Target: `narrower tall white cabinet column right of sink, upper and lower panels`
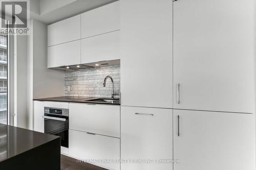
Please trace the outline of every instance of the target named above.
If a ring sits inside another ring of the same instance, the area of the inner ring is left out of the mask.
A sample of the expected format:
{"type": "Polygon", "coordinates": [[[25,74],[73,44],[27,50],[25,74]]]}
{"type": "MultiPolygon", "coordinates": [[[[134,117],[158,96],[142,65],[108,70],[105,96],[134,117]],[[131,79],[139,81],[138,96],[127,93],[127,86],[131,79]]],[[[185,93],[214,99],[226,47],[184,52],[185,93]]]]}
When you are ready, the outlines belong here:
{"type": "Polygon", "coordinates": [[[122,170],[172,169],[172,5],[120,1],[122,170]]]}

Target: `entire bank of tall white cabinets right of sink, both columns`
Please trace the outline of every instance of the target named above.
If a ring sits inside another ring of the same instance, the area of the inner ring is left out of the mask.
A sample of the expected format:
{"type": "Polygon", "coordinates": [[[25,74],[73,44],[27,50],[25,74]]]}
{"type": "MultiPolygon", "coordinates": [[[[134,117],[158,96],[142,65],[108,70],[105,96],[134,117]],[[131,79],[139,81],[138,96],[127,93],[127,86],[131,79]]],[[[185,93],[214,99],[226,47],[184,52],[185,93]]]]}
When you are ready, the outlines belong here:
{"type": "Polygon", "coordinates": [[[253,170],[253,0],[120,5],[121,169],[253,170]]]}

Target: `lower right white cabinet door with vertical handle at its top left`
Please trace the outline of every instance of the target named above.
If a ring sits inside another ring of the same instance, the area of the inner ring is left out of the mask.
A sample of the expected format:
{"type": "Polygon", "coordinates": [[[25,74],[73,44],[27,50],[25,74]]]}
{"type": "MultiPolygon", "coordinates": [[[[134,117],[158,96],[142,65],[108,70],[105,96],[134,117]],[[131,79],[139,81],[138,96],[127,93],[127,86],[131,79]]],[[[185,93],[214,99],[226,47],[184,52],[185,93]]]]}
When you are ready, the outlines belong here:
{"type": "Polygon", "coordinates": [[[253,114],[174,110],[174,122],[175,170],[254,169],[253,114]]]}

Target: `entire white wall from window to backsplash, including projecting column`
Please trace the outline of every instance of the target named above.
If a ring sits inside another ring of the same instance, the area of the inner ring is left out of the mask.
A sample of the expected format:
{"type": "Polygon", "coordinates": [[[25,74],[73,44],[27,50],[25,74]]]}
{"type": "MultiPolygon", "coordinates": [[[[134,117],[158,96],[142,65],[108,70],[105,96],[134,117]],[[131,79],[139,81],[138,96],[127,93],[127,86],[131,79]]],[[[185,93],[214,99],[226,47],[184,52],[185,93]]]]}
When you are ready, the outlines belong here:
{"type": "Polygon", "coordinates": [[[33,129],[33,99],[64,95],[64,71],[47,68],[47,26],[30,21],[17,36],[17,126],[33,129]]]}

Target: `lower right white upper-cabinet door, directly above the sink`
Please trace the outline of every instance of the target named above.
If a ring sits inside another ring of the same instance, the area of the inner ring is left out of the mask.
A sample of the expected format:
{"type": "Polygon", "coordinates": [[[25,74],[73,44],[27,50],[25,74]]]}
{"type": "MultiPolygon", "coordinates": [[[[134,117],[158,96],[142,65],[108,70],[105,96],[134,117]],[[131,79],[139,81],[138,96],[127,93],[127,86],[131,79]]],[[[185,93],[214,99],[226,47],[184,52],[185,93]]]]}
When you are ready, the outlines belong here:
{"type": "Polygon", "coordinates": [[[116,59],[120,59],[120,31],[81,40],[82,63],[116,59]]]}

